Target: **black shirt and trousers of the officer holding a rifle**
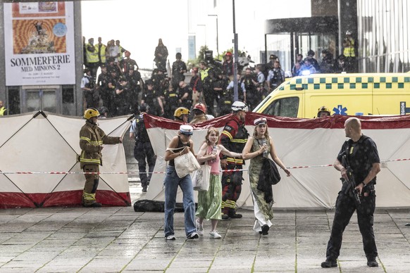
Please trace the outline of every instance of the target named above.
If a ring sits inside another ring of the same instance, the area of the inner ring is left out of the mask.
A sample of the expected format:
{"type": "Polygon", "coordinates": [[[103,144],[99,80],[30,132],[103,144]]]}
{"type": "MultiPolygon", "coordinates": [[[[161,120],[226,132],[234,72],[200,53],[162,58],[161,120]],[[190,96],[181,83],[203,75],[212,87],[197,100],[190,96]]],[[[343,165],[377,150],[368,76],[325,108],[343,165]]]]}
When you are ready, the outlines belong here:
{"type": "MultiPolygon", "coordinates": [[[[344,142],[342,149],[337,155],[337,160],[342,163],[342,154],[346,153],[347,161],[352,167],[356,186],[361,184],[370,172],[373,163],[380,163],[378,149],[373,139],[362,135],[359,141],[349,139],[344,142]]],[[[346,167],[346,166],[344,166],[346,167]]],[[[373,213],[375,210],[375,185],[374,178],[361,193],[361,203],[356,203],[352,186],[344,182],[342,190],[336,200],[335,219],[333,220],[332,233],[326,250],[326,260],[336,260],[342,246],[342,234],[349,224],[354,210],[357,213],[359,229],[363,238],[364,252],[368,260],[374,260],[378,255],[373,233],[373,213]]]]}

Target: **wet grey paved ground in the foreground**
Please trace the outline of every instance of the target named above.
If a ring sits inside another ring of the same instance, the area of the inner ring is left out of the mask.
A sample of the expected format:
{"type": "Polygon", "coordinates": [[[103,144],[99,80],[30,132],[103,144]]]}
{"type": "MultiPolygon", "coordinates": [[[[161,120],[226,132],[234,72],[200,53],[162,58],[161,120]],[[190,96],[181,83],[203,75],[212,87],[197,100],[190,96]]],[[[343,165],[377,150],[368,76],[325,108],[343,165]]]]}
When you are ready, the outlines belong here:
{"type": "MultiPolygon", "coordinates": [[[[144,199],[130,183],[132,203],[144,199]]],[[[162,212],[132,207],[0,210],[1,272],[410,272],[409,210],[375,213],[379,267],[366,265],[356,215],[344,231],[339,267],[321,268],[334,210],[275,210],[267,236],[252,210],[218,224],[222,239],[186,240],[175,213],[175,241],[163,238],[162,212]]]]}

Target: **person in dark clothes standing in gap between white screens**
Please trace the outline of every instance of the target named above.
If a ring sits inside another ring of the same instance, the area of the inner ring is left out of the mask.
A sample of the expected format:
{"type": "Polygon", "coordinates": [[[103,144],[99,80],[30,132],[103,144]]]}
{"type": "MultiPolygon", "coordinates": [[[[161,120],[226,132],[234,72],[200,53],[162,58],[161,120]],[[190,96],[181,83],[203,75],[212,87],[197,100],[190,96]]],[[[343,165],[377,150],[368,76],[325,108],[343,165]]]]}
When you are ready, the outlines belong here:
{"type": "Polygon", "coordinates": [[[134,157],[138,161],[139,179],[141,179],[142,192],[147,192],[154,171],[156,156],[152,148],[147,129],[144,125],[144,115],[149,112],[149,106],[142,103],[139,106],[139,116],[132,122],[130,139],[135,138],[134,157]],[[148,172],[147,175],[147,163],[148,172]]]}

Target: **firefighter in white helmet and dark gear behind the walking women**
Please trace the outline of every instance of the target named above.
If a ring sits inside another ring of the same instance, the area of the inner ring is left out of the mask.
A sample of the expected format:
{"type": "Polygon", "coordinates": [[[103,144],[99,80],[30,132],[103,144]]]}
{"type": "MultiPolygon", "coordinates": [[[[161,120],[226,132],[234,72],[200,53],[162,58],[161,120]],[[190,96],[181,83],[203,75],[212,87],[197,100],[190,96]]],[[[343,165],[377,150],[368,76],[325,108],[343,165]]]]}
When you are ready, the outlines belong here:
{"type": "MultiPolygon", "coordinates": [[[[231,109],[232,118],[220,134],[220,144],[228,151],[242,153],[249,136],[245,128],[248,106],[242,101],[235,101],[231,109]]],[[[242,165],[242,158],[221,156],[220,166],[223,170],[239,170],[222,174],[222,219],[242,218],[242,215],[236,213],[236,201],[242,191],[242,165]]]]}

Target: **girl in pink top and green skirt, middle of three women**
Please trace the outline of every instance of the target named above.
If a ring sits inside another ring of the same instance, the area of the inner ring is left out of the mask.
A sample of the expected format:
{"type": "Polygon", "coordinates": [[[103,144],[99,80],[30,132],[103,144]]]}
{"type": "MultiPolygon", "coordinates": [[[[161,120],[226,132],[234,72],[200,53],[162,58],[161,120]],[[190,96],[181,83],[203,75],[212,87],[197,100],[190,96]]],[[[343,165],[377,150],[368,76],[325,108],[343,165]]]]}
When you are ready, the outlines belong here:
{"type": "Polygon", "coordinates": [[[198,192],[198,209],[197,209],[197,233],[204,235],[204,219],[211,220],[211,232],[209,236],[213,239],[220,239],[221,236],[216,231],[218,220],[221,220],[220,205],[222,203],[222,185],[220,184],[220,160],[219,153],[228,155],[232,158],[242,158],[240,153],[228,151],[224,146],[218,144],[219,131],[211,127],[205,136],[204,144],[199,149],[197,160],[199,163],[206,162],[211,166],[211,175],[209,178],[209,190],[198,192]]]}

